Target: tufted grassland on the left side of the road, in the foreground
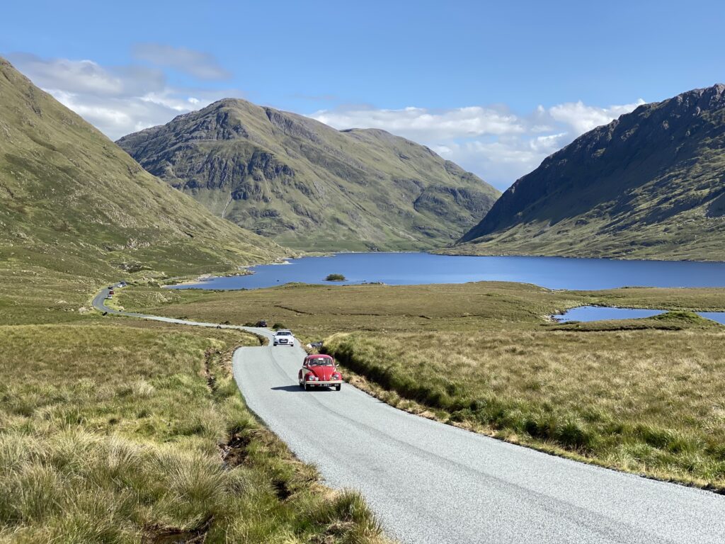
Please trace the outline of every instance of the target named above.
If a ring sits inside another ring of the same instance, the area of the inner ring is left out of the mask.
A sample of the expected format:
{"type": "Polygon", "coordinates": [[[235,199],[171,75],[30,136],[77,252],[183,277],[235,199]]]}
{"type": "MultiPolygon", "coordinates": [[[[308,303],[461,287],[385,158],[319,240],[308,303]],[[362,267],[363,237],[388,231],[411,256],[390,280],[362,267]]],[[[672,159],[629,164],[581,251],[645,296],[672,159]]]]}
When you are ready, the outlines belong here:
{"type": "Polygon", "coordinates": [[[239,331],[0,326],[0,541],[381,543],[244,405],[239,331]]]}

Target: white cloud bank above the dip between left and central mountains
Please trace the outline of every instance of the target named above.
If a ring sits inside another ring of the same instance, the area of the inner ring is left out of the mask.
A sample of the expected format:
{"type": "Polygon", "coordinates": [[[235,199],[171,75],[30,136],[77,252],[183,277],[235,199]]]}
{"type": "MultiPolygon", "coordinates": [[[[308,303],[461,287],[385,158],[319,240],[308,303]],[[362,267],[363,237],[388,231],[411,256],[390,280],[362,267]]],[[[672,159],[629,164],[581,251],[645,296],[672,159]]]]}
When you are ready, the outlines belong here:
{"type": "Polygon", "coordinates": [[[236,89],[173,87],[154,68],[101,67],[91,60],[43,59],[27,53],[8,57],[33,83],[114,140],[215,100],[240,96],[236,89]]]}

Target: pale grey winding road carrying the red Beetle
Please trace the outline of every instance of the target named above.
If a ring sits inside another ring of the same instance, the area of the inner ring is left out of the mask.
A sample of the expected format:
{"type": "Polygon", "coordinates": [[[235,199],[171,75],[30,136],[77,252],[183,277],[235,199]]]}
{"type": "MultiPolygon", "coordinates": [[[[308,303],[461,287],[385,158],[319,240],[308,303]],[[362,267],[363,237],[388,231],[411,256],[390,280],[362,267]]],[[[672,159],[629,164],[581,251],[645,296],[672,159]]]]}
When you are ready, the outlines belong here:
{"type": "MultiPolygon", "coordinates": [[[[101,311],[195,326],[173,318],[101,311]]],[[[268,329],[222,325],[271,336],[268,329]]],[[[404,543],[725,543],[725,496],[602,469],[410,415],[344,384],[305,392],[300,347],[241,347],[249,408],[404,543]]]]}

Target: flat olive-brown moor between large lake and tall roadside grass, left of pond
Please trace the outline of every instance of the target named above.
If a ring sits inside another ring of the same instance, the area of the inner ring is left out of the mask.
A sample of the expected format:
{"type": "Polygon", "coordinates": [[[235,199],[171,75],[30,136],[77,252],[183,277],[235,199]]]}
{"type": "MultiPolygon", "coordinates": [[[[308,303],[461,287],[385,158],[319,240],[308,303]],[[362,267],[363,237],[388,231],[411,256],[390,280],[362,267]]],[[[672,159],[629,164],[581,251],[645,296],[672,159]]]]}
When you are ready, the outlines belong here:
{"type": "Polygon", "coordinates": [[[303,339],[339,331],[476,330],[529,327],[576,305],[566,293],[533,285],[303,285],[208,292],[134,288],[117,301],[125,308],[201,321],[284,323],[303,339]]]}

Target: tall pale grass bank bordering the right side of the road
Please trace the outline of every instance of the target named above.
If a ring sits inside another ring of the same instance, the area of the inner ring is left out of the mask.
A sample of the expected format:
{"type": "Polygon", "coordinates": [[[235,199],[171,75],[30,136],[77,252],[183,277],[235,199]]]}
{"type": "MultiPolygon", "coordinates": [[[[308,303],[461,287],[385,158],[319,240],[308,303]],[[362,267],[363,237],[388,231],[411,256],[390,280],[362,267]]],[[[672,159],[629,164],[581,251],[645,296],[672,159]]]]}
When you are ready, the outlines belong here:
{"type": "MultiPolygon", "coordinates": [[[[646,320],[638,320],[646,321],[646,320]]],[[[725,334],[336,334],[325,349],[403,409],[650,477],[725,490],[725,334]]]]}

